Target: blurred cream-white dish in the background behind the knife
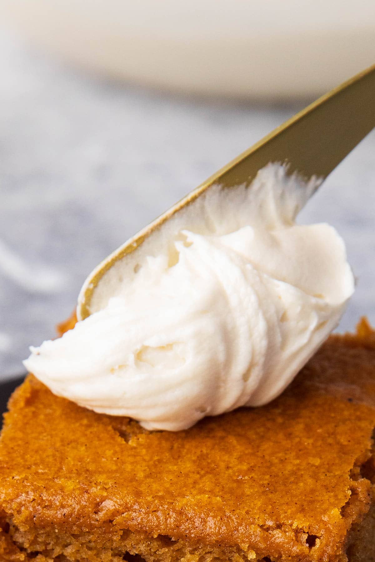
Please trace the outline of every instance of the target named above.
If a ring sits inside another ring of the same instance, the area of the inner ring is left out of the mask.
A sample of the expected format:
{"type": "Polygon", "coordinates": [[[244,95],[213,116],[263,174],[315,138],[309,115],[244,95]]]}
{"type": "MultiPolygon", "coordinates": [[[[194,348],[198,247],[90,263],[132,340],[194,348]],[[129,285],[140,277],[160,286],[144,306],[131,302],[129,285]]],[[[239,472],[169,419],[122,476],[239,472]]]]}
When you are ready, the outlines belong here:
{"type": "Polygon", "coordinates": [[[374,0],[0,0],[0,17],[89,70],[183,93],[314,97],[375,62],[374,0]]]}

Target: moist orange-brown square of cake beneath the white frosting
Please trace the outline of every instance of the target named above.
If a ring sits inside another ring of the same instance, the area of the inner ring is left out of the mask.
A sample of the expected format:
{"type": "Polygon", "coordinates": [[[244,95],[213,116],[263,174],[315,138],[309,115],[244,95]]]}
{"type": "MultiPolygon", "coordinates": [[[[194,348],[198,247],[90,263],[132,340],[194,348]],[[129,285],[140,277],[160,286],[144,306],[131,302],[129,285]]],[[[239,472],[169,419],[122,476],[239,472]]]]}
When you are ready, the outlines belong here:
{"type": "Polygon", "coordinates": [[[365,320],[271,404],[183,432],[93,413],[30,375],[0,442],[0,560],[370,562],[374,427],[365,320]]]}

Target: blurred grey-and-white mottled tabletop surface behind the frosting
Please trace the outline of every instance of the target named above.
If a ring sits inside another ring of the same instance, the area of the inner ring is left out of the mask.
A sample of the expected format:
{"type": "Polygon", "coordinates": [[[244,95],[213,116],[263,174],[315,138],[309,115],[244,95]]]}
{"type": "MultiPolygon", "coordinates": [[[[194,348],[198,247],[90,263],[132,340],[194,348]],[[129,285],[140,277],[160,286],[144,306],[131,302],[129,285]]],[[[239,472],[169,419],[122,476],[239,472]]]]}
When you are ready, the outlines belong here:
{"type": "MultiPolygon", "coordinates": [[[[0,30],[0,373],[54,335],[111,250],[299,110],[169,97],[82,75],[0,30]]],[[[344,236],[375,324],[375,134],[302,212],[344,236]]],[[[93,342],[94,345],[94,342],[93,342]]]]}

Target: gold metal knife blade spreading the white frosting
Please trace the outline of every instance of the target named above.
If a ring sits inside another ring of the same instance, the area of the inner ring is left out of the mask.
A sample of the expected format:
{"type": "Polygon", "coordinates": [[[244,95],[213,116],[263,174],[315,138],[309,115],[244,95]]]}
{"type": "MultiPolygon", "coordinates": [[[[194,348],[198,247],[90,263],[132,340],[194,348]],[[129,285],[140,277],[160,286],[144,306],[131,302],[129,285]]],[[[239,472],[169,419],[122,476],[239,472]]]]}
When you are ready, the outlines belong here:
{"type": "Polygon", "coordinates": [[[286,162],[288,173],[296,171],[306,179],[313,175],[324,179],[374,127],[375,65],[288,119],[101,262],[83,285],[78,319],[91,314],[93,293],[107,271],[211,186],[250,185],[257,171],[269,162],[286,162]]]}

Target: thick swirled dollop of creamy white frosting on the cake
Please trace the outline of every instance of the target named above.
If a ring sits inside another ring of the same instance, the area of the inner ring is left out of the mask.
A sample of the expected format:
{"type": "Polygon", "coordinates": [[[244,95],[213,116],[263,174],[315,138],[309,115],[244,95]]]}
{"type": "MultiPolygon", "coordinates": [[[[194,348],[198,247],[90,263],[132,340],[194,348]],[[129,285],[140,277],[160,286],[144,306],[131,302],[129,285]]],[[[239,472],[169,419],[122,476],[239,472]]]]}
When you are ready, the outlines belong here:
{"type": "Polygon", "coordinates": [[[151,236],[112,268],[93,314],[31,347],[26,368],[56,395],[147,429],[266,404],[354,291],[335,229],[295,223],[318,184],[268,165],[250,188],[210,189],[155,234],[152,251],[151,236]]]}

